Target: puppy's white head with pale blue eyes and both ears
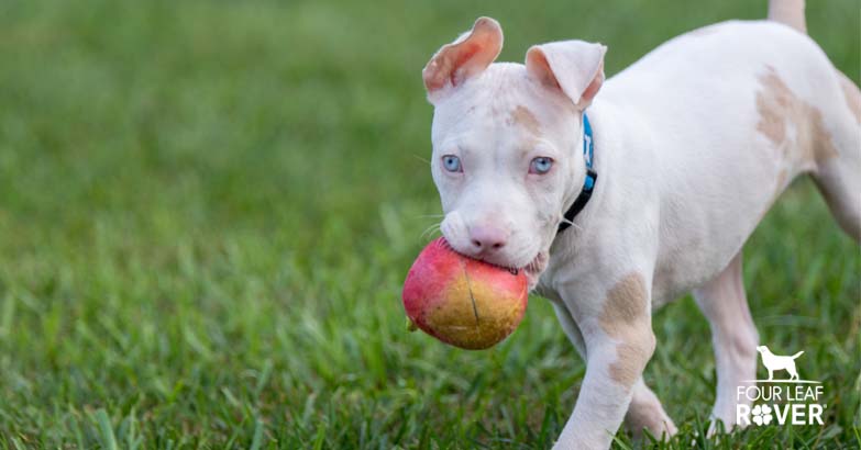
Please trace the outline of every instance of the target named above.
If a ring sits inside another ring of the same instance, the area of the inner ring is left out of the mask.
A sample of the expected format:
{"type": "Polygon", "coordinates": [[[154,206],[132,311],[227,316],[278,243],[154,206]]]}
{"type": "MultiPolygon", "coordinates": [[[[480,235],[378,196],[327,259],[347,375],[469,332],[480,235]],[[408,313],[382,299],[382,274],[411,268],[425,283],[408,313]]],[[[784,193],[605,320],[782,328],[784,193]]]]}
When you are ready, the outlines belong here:
{"type": "Polygon", "coordinates": [[[526,269],[533,288],[586,177],[581,117],[604,81],[606,47],[556,42],[531,47],[526,65],[494,64],[501,48],[499,24],[481,18],[424,67],[431,171],[451,246],[526,269]]]}

